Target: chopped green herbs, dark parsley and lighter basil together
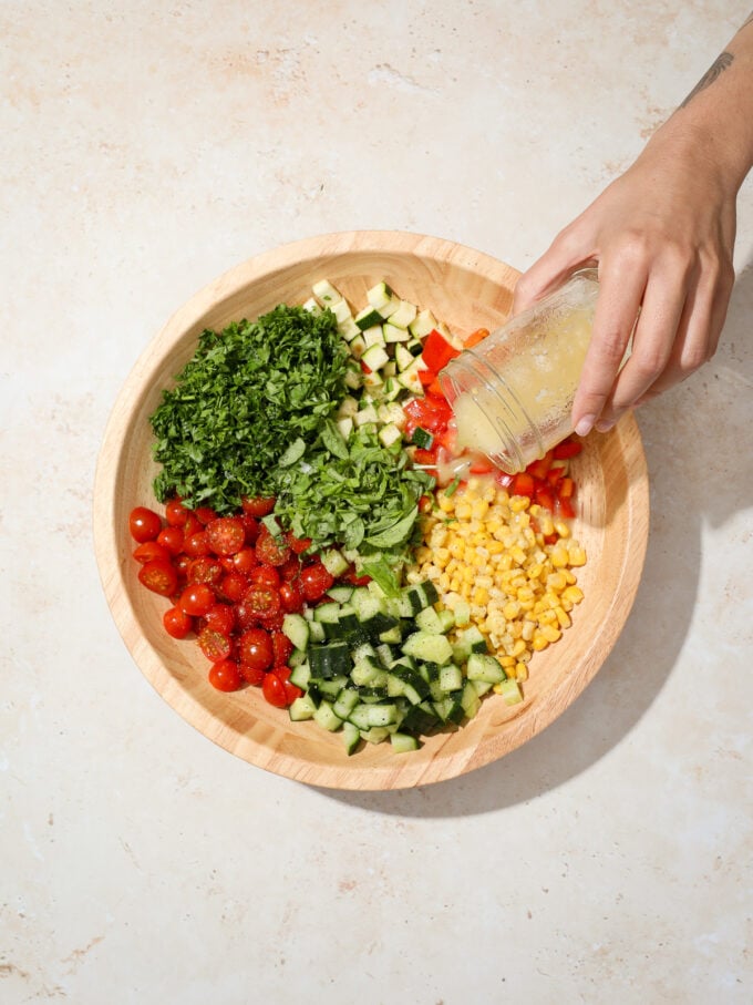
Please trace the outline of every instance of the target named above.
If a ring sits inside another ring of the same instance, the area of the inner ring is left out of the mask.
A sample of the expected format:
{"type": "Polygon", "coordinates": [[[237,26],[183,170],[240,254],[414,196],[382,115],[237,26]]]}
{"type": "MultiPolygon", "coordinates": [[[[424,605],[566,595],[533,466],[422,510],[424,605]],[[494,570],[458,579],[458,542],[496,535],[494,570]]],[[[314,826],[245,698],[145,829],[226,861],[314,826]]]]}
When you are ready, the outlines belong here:
{"type": "Polygon", "coordinates": [[[383,447],[373,425],[343,438],[334,416],[348,358],[331,311],[280,305],[204,331],[151,418],[157,499],[221,514],[244,496],[275,495],[280,524],[314,551],[404,558],[434,480],[406,466],[400,443],[383,447]]]}

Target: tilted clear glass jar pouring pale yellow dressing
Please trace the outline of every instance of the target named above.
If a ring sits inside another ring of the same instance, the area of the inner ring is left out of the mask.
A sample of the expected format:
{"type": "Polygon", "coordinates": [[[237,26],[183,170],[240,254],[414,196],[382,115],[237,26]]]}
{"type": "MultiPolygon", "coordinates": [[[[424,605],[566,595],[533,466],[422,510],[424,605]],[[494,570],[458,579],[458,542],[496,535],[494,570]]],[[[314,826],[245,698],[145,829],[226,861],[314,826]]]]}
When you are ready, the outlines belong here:
{"type": "Polygon", "coordinates": [[[573,432],[573,402],[591,340],[597,270],[580,269],[440,372],[457,445],[523,471],[573,432]]]}

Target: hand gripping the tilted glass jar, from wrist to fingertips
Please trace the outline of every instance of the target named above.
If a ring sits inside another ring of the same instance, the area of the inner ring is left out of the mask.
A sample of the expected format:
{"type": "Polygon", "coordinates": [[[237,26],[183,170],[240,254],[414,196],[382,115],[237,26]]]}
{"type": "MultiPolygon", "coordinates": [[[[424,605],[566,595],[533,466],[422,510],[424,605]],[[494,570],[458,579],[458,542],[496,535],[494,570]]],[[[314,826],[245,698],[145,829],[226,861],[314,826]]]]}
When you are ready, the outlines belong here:
{"type": "Polygon", "coordinates": [[[515,290],[518,314],[575,269],[598,266],[594,335],[573,407],[581,435],[594,425],[610,429],[689,377],[713,356],[724,324],[736,185],[697,137],[664,130],[560,232],[515,290]]]}

